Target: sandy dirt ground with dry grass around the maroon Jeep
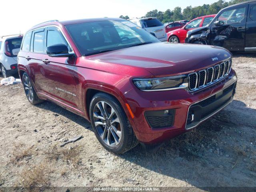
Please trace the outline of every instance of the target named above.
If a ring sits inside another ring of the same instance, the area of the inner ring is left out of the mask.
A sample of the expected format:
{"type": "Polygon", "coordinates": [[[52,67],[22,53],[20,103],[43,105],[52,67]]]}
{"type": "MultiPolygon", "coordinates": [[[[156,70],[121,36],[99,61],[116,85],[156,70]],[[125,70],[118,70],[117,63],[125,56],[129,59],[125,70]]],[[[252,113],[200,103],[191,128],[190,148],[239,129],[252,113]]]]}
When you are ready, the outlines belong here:
{"type": "Polygon", "coordinates": [[[154,154],[140,145],[112,154],[82,117],[51,102],[32,106],[22,84],[0,86],[0,187],[255,187],[256,54],[234,54],[233,68],[234,101],[154,154]]]}

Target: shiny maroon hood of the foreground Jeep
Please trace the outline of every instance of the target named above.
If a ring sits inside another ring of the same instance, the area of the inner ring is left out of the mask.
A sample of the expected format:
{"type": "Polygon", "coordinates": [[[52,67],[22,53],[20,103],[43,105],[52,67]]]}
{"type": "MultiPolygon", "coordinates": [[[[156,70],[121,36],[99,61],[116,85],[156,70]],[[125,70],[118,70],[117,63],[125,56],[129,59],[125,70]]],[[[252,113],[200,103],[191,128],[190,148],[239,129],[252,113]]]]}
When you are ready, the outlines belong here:
{"type": "Polygon", "coordinates": [[[144,68],[159,77],[194,72],[230,56],[230,52],[216,46],[159,42],[96,54],[87,58],[144,68]],[[212,58],[218,58],[218,60],[212,61],[212,58]]]}

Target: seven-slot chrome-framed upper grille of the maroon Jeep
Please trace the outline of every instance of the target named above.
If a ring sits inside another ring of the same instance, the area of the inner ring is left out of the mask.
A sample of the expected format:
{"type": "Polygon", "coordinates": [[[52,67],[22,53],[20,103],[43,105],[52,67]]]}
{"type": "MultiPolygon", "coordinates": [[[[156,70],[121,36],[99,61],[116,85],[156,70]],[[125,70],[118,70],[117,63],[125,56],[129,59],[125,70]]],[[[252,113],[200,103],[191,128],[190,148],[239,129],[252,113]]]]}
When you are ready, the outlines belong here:
{"type": "Polygon", "coordinates": [[[232,60],[227,60],[198,72],[188,74],[188,88],[195,91],[221,80],[230,73],[232,60]]]}

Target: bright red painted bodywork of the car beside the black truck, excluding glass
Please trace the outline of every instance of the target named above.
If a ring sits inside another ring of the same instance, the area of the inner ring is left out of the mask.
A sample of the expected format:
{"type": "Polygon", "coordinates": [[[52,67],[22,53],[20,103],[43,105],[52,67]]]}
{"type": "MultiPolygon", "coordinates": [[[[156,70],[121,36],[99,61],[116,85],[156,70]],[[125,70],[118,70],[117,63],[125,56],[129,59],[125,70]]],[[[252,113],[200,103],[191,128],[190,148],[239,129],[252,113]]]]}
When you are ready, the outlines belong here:
{"type": "Polygon", "coordinates": [[[192,30],[192,29],[195,29],[195,28],[189,28],[189,29],[186,29],[186,26],[188,24],[190,24],[191,22],[193,22],[194,20],[197,20],[197,19],[201,19],[202,18],[202,21],[199,25],[199,27],[202,27],[203,23],[204,23],[204,19],[205,18],[209,18],[209,17],[212,17],[214,18],[216,15],[207,15],[207,16],[202,16],[202,17],[198,17],[198,18],[195,18],[193,20],[191,20],[190,22],[188,22],[185,26],[183,26],[182,28],[180,29],[176,29],[176,30],[173,30],[171,32],[168,32],[167,33],[167,41],[169,41],[170,37],[171,36],[177,36],[180,40],[180,43],[185,43],[185,39],[186,39],[186,35],[187,35],[187,32],[192,30]]]}

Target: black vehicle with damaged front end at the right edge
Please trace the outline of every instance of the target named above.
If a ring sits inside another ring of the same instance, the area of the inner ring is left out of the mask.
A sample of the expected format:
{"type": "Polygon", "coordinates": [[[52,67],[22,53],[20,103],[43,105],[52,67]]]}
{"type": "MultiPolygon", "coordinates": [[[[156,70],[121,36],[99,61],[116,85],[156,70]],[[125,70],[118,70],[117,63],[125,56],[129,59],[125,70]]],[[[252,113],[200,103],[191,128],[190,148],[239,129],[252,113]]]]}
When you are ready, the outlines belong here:
{"type": "Polygon", "coordinates": [[[209,26],[189,32],[186,42],[256,52],[256,0],[222,9],[209,26]]]}

